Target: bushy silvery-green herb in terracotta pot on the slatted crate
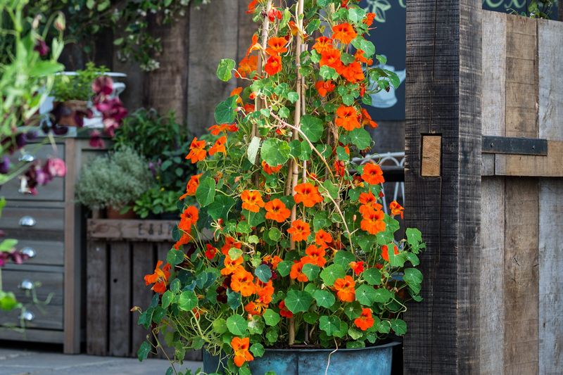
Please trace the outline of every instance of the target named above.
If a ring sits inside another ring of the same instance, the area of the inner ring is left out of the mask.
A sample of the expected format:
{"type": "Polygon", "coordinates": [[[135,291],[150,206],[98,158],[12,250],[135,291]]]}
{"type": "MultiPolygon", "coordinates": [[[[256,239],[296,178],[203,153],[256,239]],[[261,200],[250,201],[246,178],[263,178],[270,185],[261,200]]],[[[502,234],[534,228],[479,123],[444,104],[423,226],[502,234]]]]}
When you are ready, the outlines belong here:
{"type": "Polygon", "coordinates": [[[108,219],[134,218],[130,205],[149,189],[149,174],[146,160],[131,148],[97,156],[80,170],[77,201],[91,210],[106,208],[108,219]]]}

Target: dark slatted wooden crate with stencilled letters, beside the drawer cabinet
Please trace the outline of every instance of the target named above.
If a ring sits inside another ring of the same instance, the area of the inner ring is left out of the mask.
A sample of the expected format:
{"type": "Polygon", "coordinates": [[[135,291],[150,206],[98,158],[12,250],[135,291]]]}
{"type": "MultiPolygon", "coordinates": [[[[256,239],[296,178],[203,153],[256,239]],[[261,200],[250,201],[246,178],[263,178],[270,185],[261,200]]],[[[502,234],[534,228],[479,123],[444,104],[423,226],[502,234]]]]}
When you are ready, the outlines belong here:
{"type": "MultiPolygon", "coordinates": [[[[153,291],[144,284],[158,260],[172,248],[172,228],[167,220],[89,220],[87,246],[87,353],[136,357],[149,332],[137,325],[138,312],[146,308],[153,291]]],[[[173,355],[167,350],[167,355],[173,355]]],[[[158,353],[158,357],[166,357],[158,353]]],[[[188,352],[186,360],[201,360],[201,351],[188,352]]]]}

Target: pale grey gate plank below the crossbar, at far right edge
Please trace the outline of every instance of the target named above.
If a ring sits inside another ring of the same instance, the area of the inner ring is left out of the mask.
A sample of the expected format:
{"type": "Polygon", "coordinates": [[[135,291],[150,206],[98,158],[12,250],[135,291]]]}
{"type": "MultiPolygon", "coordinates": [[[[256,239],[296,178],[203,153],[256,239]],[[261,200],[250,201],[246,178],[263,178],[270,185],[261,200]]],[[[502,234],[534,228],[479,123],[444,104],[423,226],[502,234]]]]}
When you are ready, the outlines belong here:
{"type": "Polygon", "coordinates": [[[563,180],[540,179],[539,374],[563,374],[563,180]]]}

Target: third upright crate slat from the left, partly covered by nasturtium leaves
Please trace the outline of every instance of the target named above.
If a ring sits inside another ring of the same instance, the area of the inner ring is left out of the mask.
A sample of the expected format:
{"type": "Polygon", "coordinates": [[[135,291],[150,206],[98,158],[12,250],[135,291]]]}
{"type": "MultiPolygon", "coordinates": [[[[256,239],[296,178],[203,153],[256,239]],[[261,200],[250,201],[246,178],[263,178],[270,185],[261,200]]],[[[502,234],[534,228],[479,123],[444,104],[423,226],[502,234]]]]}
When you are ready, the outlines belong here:
{"type": "MultiPolygon", "coordinates": [[[[152,274],[156,262],[153,257],[154,244],[150,242],[134,242],[132,243],[132,294],[133,294],[133,306],[139,306],[141,309],[146,309],[146,307],[151,303],[153,298],[153,291],[151,291],[150,286],[146,286],[144,282],[144,276],[146,274],[152,274]]],[[[139,318],[138,312],[133,312],[132,314],[132,339],[131,339],[131,352],[132,357],[137,356],[137,350],[143,341],[146,340],[146,336],[149,332],[144,329],[144,327],[137,324],[137,319],[139,318]]]]}

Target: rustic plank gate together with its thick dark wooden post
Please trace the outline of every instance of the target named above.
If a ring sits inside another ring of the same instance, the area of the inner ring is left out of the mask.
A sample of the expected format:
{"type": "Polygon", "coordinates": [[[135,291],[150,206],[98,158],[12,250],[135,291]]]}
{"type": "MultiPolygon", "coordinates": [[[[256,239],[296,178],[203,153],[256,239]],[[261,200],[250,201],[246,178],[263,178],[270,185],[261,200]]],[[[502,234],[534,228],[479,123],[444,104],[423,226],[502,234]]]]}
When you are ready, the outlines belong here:
{"type": "Polygon", "coordinates": [[[428,248],[405,374],[563,374],[563,23],[429,3],[407,4],[405,222],[428,248]]]}

